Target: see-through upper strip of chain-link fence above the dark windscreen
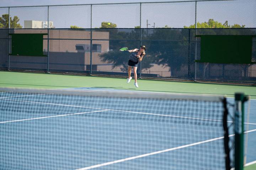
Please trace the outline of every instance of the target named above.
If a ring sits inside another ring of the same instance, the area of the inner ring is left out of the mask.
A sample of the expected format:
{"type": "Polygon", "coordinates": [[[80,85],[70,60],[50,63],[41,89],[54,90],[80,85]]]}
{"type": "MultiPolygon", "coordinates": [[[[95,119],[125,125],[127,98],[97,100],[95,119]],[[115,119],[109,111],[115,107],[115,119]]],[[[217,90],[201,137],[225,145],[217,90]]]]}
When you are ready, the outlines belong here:
{"type": "Polygon", "coordinates": [[[195,23],[203,27],[209,19],[215,21],[211,25],[215,28],[220,23],[255,28],[255,8],[255,0],[0,7],[0,28],[100,28],[102,22],[110,22],[111,28],[114,24],[116,28],[184,28],[196,27],[195,23]]]}

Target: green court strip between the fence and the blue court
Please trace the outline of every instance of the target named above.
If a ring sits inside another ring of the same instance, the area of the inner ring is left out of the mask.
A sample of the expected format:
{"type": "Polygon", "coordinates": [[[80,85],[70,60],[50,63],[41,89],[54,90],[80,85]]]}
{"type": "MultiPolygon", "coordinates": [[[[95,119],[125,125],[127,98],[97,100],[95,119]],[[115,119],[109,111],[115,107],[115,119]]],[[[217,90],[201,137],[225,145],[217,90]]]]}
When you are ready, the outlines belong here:
{"type": "Polygon", "coordinates": [[[91,77],[79,75],[0,72],[1,87],[33,87],[46,89],[94,87],[115,90],[139,90],[147,92],[163,92],[193,95],[226,95],[234,97],[235,92],[244,92],[256,99],[256,86],[225,85],[210,83],[177,82],[163,80],[138,80],[139,88],[129,84],[125,78],[91,77]]]}

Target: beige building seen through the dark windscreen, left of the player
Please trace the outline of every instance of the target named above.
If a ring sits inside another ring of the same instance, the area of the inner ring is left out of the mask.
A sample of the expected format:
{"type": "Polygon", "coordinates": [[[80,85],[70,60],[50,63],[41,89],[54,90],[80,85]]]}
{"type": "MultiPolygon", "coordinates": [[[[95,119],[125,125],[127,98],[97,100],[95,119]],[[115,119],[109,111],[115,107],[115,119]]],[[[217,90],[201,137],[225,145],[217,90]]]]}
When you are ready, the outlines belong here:
{"type": "MultiPolygon", "coordinates": [[[[38,22],[40,24],[40,22],[38,22]]],[[[47,29],[16,29],[15,33],[47,33],[47,29]]],[[[84,29],[50,29],[49,30],[49,69],[56,70],[90,70],[90,30],[84,29]],[[79,40],[88,39],[88,40],[79,40]]],[[[47,55],[47,35],[44,35],[43,51],[47,55]]],[[[108,52],[109,32],[94,31],[92,39],[92,70],[98,72],[126,73],[125,66],[113,68],[113,64],[102,61],[100,55],[108,52]],[[106,40],[102,40],[106,39],[106,40]]],[[[114,49],[112,49],[114,50],[114,49]]],[[[146,57],[146,56],[145,56],[146,57]]],[[[117,58],[118,60],[118,58],[117,58]]],[[[144,59],[146,60],[146,58],[144,59]]],[[[20,56],[15,57],[12,67],[47,68],[47,57],[20,56]]],[[[127,55],[128,63],[128,55],[127,55]]],[[[171,77],[170,67],[153,64],[149,69],[142,69],[144,74],[157,74],[162,77],[171,77]]],[[[71,71],[72,72],[72,71],[71,71]]],[[[186,74],[186,73],[184,73],[186,74]]]]}

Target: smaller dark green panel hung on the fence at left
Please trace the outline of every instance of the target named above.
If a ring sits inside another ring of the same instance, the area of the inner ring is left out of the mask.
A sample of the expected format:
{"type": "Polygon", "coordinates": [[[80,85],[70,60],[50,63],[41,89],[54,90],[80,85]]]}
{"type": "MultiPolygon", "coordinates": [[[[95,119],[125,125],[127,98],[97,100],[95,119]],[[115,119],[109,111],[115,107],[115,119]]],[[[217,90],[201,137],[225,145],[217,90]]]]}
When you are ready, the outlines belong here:
{"type": "Polygon", "coordinates": [[[43,35],[47,34],[10,34],[14,56],[47,56],[43,55],[43,35]]]}

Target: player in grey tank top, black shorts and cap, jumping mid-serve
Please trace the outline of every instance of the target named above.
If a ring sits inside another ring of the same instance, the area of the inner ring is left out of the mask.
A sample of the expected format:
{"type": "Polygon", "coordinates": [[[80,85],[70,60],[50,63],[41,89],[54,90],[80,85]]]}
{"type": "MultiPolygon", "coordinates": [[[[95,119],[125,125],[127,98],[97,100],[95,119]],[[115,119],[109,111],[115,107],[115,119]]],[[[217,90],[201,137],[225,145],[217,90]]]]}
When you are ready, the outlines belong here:
{"type": "Polygon", "coordinates": [[[130,83],[130,80],[132,80],[132,77],[130,76],[131,70],[133,67],[133,73],[134,73],[134,80],[135,80],[135,87],[139,87],[137,83],[137,67],[138,63],[142,61],[142,58],[145,56],[146,46],[142,45],[140,46],[140,49],[134,49],[134,50],[128,50],[132,54],[129,56],[128,61],[128,79],[127,83],[130,83]]]}

